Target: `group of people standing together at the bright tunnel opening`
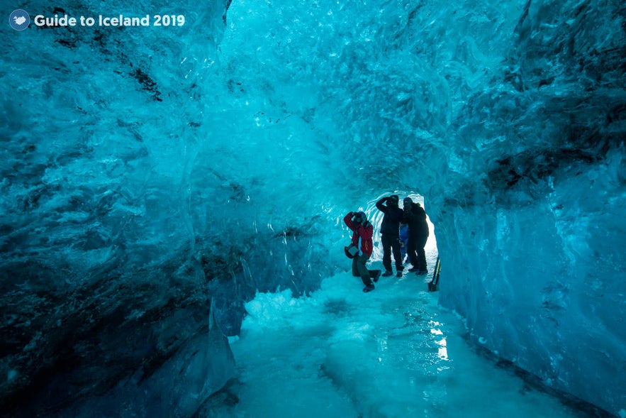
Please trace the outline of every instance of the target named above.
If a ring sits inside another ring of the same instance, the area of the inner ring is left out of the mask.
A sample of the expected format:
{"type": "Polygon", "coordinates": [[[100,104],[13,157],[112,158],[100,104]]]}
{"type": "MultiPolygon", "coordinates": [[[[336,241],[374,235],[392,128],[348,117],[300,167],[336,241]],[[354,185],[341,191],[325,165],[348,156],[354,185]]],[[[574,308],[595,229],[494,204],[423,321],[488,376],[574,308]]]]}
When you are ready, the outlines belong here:
{"type": "Polygon", "coordinates": [[[374,250],[372,243],[374,226],[367,220],[365,213],[351,211],[343,219],[347,227],[353,231],[352,245],[358,249],[358,253],[352,258],[352,275],[361,277],[365,285],[364,292],[374,290],[374,282],[377,282],[381,275],[384,277],[393,275],[392,253],[397,277],[402,277],[405,258],[403,253],[405,252],[412,265],[408,271],[418,275],[428,273],[424,251],[428,240],[426,212],[419,203],[413,202],[410,197],[403,199],[403,209],[401,209],[398,205],[399,200],[397,194],[391,194],[391,196],[383,197],[376,202],[376,208],[384,213],[381,223],[381,243],[385,273],[382,273],[381,270],[368,270],[365,266],[374,250]],[[401,240],[401,231],[406,232],[406,241],[401,240]]]}

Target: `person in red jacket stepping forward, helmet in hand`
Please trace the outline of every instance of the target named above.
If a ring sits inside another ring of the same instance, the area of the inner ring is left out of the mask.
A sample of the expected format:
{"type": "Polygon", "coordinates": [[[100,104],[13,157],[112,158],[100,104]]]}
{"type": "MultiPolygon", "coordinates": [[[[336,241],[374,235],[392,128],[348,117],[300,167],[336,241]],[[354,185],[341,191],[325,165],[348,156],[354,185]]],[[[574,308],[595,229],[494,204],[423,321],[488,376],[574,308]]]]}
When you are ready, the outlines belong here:
{"type": "Polygon", "coordinates": [[[374,235],[374,227],[367,221],[367,216],[362,211],[352,211],[343,218],[348,228],[352,229],[352,244],[359,248],[359,252],[352,258],[352,275],[361,277],[365,287],[363,292],[374,290],[374,282],[377,282],[381,270],[367,270],[365,263],[374,249],[371,236],[374,235]]]}

